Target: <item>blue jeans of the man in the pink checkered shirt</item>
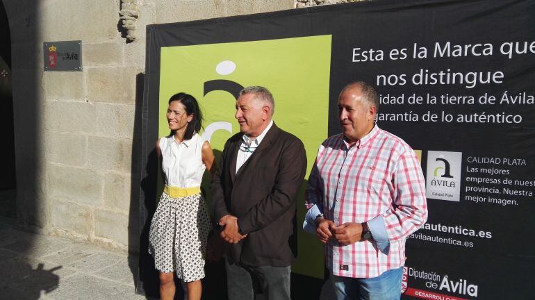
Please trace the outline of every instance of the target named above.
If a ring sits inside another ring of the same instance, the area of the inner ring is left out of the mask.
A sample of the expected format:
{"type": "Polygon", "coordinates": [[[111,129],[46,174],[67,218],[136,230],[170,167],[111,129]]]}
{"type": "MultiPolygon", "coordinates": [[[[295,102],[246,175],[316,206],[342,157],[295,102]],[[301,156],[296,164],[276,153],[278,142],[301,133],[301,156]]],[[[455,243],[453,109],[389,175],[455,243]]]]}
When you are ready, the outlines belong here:
{"type": "Polygon", "coordinates": [[[373,278],[351,278],[331,273],[336,300],[399,300],[403,267],[373,278]]]}

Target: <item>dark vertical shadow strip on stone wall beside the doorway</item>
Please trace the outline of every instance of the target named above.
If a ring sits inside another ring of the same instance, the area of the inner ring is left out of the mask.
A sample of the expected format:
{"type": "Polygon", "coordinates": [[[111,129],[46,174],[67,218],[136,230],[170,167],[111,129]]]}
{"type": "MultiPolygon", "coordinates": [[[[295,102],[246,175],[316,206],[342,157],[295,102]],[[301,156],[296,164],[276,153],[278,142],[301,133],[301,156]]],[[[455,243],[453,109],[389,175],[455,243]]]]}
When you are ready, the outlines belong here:
{"type": "MultiPolygon", "coordinates": [[[[38,6],[27,6],[22,12],[21,5],[17,1],[6,3],[8,4],[4,6],[10,16],[10,41],[2,36],[0,42],[11,43],[13,53],[17,54],[13,56],[11,64],[14,73],[13,98],[17,100],[13,102],[15,126],[12,127],[15,136],[16,181],[19,183],[16,199],[17,222],[25,228],[40,228],[46,222],[40,201],[42,180],[38,178],[42,173],[40,159],[44,154],[38,144],[42,135],[40,126],[42,104],[38,101],[40,91],[38,79],[42,74],[42,65],[39,64],[38,57],[42,55],[42,51],[28,51],[28,49],[42,49],[42,44],[38,41],[38,6]]],[[[0,18],[6,18],[7,14],[3,15],[3,8],[0,10],[2,14],[0,18]]],[[[13,177],[13,174],[11,176],[13,177]]]]}

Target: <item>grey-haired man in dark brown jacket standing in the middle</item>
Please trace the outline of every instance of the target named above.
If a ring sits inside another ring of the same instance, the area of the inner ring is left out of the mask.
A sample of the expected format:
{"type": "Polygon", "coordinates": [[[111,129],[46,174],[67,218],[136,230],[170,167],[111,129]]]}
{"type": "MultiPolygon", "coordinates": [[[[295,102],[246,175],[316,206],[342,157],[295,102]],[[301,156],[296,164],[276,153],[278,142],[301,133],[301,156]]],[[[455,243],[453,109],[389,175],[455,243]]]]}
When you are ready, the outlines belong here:
{"type": "Polygon", "coordinates": [[[225,266],[230,300],[290,299],[290,265],[296,256],[296,199],[306,172],[301,140],[272,121],[274,100],[265,88],[240,92],[240,133],[224,145],[211,183],[212,209],[228,242],[225,266]]]}

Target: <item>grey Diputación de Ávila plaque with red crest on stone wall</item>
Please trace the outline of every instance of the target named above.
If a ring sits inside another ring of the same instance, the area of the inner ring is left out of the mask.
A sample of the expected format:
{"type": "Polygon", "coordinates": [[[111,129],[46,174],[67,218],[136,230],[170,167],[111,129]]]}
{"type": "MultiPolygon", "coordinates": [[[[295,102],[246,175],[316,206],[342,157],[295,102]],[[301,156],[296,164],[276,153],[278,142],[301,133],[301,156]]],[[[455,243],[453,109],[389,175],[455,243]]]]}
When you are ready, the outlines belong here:
{"type": "Polygon", "coordinates": [[[82,41],[44,42],[44,71],[81,71],[82,41]]]}

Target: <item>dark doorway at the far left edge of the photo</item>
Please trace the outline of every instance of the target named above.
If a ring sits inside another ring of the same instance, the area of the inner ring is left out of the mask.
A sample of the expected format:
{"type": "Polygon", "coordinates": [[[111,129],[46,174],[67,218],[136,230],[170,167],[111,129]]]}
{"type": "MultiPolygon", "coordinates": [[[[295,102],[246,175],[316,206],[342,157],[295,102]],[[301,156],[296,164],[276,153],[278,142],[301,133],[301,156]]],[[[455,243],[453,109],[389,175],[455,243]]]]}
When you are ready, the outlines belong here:
{"type": "Polygon", "coordinates": [[[15,131],[11,90],[11,38],[8,16],[0,1],[0,215],[16,217],[15,131]]]}

